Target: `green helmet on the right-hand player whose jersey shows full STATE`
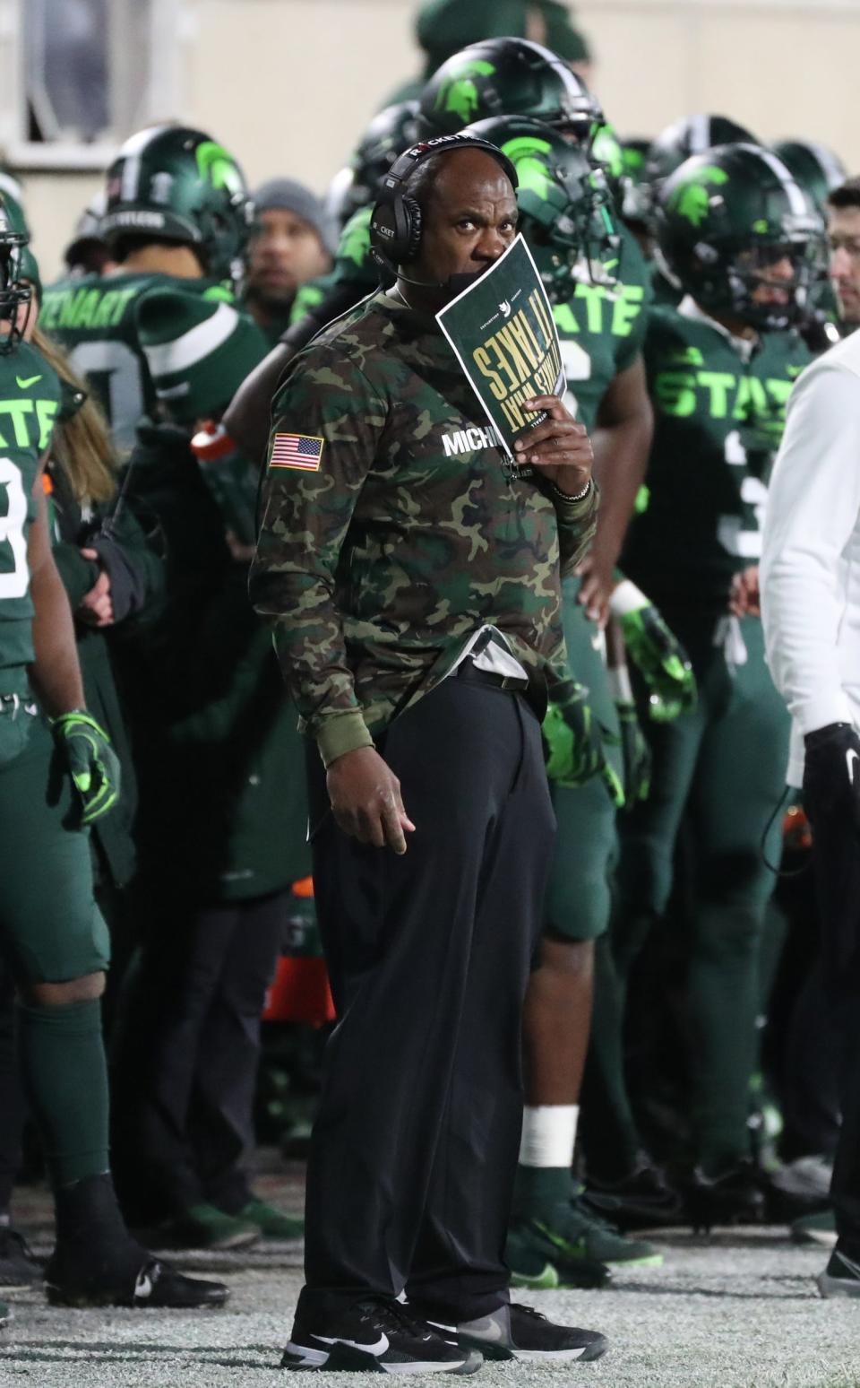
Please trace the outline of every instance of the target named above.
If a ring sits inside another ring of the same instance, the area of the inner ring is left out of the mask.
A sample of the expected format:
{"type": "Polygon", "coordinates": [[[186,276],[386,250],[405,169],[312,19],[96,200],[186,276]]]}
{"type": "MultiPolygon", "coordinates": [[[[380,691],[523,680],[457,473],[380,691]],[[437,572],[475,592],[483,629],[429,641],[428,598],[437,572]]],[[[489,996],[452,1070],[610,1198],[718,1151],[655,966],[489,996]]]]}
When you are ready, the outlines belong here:
{"type": "Polygon", "coordinates": [[[702,308],[762,329],[803,316],[824,225],[770,150],[724,144],[685,160],[660,189],[655,229],[659,258],[702,308]],[[791,278],[775,273],[785,261],[791,278]]]}

